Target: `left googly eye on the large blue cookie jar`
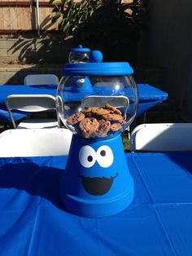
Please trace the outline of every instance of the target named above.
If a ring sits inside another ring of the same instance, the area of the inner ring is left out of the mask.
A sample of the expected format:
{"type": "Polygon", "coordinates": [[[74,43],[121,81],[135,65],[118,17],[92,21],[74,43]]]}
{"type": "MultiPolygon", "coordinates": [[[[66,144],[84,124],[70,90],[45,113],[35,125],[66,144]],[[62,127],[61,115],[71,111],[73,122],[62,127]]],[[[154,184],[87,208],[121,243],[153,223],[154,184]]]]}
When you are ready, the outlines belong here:
{"type": "Polygon", "coordinates": [[[86,168],[94,166],[96,161],[96,152],[94,151],[94,148],[83,146],[79,152],[79,161],[81,165],[86,168]]]}

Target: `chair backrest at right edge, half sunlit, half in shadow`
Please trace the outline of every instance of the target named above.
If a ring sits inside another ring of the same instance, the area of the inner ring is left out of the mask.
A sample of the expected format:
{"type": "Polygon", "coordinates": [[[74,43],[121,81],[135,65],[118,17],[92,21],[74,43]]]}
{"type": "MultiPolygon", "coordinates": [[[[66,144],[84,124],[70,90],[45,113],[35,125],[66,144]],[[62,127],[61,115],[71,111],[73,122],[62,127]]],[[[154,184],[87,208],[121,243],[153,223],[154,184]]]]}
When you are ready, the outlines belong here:
{"type": "Polygon", "coordinates": [[[159,123],[137,126],[130,136],[132,152],[192,150],[192,123],[159,123]]]}

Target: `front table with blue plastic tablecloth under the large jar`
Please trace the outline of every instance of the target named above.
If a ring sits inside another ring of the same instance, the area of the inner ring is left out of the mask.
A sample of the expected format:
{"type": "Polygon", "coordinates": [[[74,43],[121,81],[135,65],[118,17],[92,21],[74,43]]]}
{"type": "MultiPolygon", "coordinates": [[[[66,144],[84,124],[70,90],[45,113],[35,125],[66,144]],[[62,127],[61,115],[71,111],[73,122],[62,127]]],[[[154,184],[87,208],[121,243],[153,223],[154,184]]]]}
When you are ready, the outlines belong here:
{"type": "Polygon", "coordinates": [[[59,200],[67,157],[0,159],[3,256],[191,256],[192,152],[127,153],[133,202],[83,218],[59,200]]]}

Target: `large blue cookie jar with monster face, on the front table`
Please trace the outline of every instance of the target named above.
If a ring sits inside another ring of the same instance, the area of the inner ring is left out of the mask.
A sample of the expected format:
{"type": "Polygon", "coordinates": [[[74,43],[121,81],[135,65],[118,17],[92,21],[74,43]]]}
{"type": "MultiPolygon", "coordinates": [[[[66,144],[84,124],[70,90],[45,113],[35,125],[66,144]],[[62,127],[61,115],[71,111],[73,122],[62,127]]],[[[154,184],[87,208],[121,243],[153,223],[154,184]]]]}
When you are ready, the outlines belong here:
{"type": "Polygon", "coordinates": [[[73,133],[61,199],[70,212],[89,218],[119,213],[134,195],[120,136],[137,112],[133,68],[96,62],[100,56],[94,51],[92,63],[66,64],[56,97],[59,117],[73,133]],[[72,90],[77,78],[89,79],[91,90],[72,90]]]}

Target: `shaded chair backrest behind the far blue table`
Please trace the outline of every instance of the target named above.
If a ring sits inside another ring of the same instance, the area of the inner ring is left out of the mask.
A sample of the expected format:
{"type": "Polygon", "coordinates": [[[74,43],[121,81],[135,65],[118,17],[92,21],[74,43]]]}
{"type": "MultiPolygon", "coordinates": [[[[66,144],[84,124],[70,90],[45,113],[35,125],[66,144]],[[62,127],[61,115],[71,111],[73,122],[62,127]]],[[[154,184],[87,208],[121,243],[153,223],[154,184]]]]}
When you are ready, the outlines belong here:
{"type": "Polygon", "coordinates": [[[24,85],[58,85],[59,78],[54,74],[30,74],[24,77],[24,85]]]}

